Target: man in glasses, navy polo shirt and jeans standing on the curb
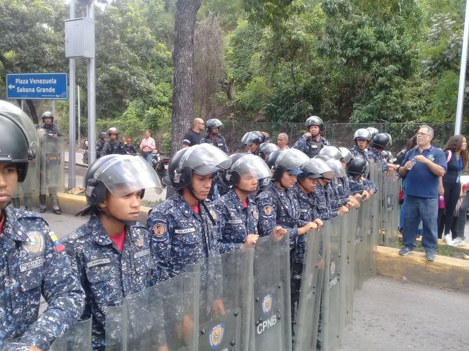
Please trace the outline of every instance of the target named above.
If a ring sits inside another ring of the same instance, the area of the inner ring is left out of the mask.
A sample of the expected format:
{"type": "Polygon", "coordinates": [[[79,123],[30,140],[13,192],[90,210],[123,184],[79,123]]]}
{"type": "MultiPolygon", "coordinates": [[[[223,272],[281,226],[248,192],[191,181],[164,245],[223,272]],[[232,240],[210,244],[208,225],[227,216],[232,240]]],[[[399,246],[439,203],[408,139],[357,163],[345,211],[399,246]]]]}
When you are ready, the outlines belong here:
{"type": "Polygon", "coordinates": [[[422,125],[417,132],[417,146],[410,149],[399,167],[399,174],[406,177],[404,202],[403,248],[399,255],[406,256],[415,249],[419,222],[423,224],[422,246],[427,261],[435,261],[438,242],[438,187],[439,177],[446,173],[445,154],[431,145],[433,129],[422,125]]]}

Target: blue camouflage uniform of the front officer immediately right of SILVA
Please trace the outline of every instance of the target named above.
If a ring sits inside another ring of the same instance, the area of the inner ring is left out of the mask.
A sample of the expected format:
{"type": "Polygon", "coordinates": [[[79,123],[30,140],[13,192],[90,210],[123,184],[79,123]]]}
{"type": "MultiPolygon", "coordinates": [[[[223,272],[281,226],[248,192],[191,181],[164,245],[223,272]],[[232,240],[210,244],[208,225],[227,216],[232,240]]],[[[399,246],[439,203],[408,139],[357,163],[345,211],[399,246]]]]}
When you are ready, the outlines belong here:
{"type": "Polygon", "coordinates": [[[220,253],[242,248],[248,234],[257,234],[259,211],[250,198],[244,207],[233,189],[213,204],[218,216],[220,253]]]}

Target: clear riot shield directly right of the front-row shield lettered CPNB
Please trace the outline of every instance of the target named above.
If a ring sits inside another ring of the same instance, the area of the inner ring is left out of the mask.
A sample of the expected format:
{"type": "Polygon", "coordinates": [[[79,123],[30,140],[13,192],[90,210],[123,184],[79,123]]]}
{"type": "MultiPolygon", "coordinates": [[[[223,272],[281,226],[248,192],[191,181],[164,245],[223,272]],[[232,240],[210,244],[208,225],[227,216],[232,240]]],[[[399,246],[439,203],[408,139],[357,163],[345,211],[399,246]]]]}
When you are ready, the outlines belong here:
{"type": "Polygon", "coordinates": [[[321,251],[321,237],[323,230],[309,231],[306,244],[303,272],[301,277],[292,276],[291,279],[301,279],[299,302],[295,328],[294,350],[315,350],[317,330],[319,326],[319,311],[321,306],[321,286],[323,278],[323,258],[321,251]]]}

